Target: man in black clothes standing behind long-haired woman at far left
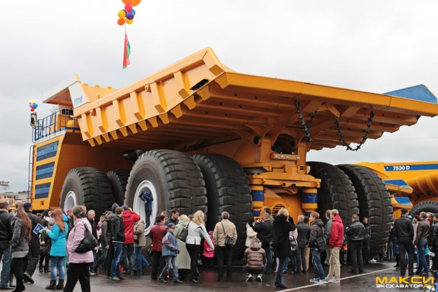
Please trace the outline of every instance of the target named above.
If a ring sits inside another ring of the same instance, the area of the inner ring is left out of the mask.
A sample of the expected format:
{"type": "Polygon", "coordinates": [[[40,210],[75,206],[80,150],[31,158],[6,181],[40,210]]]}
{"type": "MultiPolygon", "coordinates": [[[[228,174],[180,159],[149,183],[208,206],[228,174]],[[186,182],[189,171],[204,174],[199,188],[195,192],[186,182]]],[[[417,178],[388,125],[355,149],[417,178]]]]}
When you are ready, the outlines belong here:
{"type": "Polygon", "coordinates": [[[38,260],[40,259],[40,234],[35,234],[33,231],[36,228],[37,224],[41,224],[40,217],[36,216],[32,213],[32,205],[29,202],[25,202],[23,205],[25,208],[25,212],[27,217],[29,217],[31,226],[31,239],[30,239],[30,247],[29,247],[29,263],[25,268],[25,272],[23,273],[23,278],[25,282],[29,282],[34,284],[34,279],[32,279],[32,275],[35,273],[36,265],[38,265],[38,260]]]}

